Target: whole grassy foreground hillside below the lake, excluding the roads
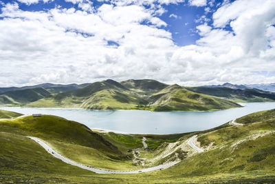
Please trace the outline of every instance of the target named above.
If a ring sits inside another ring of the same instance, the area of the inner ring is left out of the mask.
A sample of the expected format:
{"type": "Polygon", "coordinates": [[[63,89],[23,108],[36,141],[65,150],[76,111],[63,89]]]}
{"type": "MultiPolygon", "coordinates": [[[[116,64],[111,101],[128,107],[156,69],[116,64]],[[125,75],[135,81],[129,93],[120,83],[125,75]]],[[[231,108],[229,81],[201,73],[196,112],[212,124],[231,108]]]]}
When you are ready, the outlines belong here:
{"type": "Polygon", "coordinates": [[[57,116],[0,120],[0,182],[3,183],[274,183],[275,110],[256,112],[211,130],[142,135],[93,132],[57,116]],[[190,138],[203,149],[188,145],[190,138]],[[37,136],[56,152],[84,165],[139,170],[180,160],[166,170],[140,174],[95,174],[63,163],[26,136],[37,136]],[[133,161],[131,160],[133,159],[133,161]],[[132,164],[131,164],[132,162],[132,164]]]}

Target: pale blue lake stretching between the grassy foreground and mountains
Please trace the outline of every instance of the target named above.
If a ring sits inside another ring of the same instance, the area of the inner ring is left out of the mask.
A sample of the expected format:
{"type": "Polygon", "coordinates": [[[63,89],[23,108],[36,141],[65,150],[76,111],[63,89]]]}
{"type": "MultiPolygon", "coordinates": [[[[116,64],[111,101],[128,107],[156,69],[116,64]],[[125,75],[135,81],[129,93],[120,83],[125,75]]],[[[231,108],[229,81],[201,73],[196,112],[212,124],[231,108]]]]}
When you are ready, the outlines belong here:
{"type": "Polygon", "coordinates": [[[275,102],[240,103],[243,108],[214,112],[150,112],[145,110],[94,111],[78,109],[0,107],[21,114],[52,114],[87,127],[136,134],[173,134],[206,130],[252,112],[271,110],[275,102]]]}

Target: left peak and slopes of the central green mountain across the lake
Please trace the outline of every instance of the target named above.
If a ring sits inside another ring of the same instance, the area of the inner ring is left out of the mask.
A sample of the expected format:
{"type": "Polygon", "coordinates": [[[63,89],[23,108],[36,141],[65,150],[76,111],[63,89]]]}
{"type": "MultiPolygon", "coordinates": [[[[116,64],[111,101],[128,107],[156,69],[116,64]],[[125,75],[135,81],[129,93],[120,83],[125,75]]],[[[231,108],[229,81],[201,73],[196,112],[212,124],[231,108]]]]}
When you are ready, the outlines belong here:
{"type": "Polygon", "coordinates": [[[107,80],[92,83],[28,104],[30,107],[87,108],[92,110],[133,109],[148,101],[134,94],[118,82],[107,80]]]}

